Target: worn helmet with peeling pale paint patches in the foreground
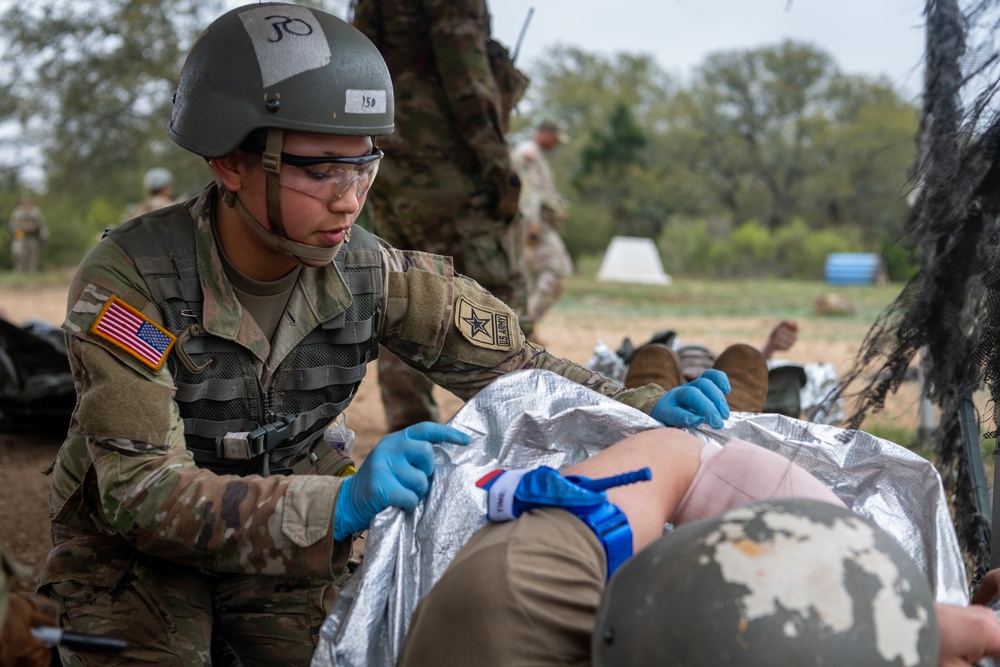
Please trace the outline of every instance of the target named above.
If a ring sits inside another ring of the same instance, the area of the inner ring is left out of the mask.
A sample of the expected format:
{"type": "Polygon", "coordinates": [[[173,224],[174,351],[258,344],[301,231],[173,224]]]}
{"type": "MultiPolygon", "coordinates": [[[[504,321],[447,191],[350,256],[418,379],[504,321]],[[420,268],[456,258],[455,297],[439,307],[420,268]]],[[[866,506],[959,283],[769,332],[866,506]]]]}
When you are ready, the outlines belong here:
{"type": "Polygon", "coordinates": [[[926,575],[888,533],[813,500],[687,524],[608,583],[596,667],[937,665],[926,575]]]}

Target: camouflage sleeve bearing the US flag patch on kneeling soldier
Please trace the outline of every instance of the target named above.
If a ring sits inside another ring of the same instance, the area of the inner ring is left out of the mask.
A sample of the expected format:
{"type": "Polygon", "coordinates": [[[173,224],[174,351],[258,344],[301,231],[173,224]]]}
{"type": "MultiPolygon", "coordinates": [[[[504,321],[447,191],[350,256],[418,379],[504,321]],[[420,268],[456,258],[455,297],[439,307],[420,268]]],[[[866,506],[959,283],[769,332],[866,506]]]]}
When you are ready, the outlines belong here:
{"type": "Polygon", "coordinates": [[[89,330],[112,294],[158,321],[128,259],[105,240],[70,290],[64,328],[77,408],[60,452],[91,469],[102,529],[215,572],[317,577],[342,567],[350,546],[335,543],[332,529],[342,478],[238,477],[195,466],[166,367],[147,368],[89,330]]]}

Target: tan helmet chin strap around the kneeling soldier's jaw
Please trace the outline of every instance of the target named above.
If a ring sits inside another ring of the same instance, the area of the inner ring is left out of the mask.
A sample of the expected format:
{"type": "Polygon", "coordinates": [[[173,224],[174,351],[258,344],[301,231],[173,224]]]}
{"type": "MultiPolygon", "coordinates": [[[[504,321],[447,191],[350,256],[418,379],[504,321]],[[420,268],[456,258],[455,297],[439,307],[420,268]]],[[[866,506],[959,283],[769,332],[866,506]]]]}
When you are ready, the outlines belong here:
{"type": "MultiPolygon", "coordinates": [[[[343,242],[330,248],[306,245],[288,238],[285,227],[281,222],[281,186],[278,184],[278,171],[281,169],[281,144],[283,132],[279,129],[268,129],[267,146],[264,149],[263,168],[267,181],[267,217],[271,222],[274,231],[265,227],[257,218],[253,216],[239,200],[236,193],[227,188],[222,179],[216,174],[215,182],[219,186],[219,193],[222,201],[231,208],[236,209],[240,217],[246,221],[247,225],[257,234],[264,243],[275,250],[282,252],[303,266],[323,266],[333,261],[340,251],[343,242]]],[[[345,240],[350,239],[350,230],[345,235],[345,240]]]]}

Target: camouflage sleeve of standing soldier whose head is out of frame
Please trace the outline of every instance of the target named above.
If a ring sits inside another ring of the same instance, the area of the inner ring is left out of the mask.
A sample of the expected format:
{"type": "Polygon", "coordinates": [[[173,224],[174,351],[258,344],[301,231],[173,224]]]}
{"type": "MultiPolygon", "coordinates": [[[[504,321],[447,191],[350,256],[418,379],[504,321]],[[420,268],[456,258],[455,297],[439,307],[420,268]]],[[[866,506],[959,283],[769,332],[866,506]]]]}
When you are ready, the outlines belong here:
{"type": "Polygon", "coordinates": [[[500,91],[486,55],[489,14],[484,2],[425,0],[431,49],[455,125],[484,173],[511,171],[501,129],[500,91]]]}

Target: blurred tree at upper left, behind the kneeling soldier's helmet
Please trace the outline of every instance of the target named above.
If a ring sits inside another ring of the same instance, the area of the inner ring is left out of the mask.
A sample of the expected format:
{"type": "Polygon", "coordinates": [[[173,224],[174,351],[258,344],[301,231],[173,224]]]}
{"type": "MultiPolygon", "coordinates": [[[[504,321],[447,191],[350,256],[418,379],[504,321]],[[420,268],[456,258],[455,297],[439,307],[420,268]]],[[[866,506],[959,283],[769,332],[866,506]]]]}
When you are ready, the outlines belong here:
{"type": "Polygon", "coordinates": [[[0,76],[0,111],[40,148],[50,191],[127,197],[155,163],[203,179],[165,130],[184,54],[221,9],[220,0],[49,0],[0,16],[4,61],[17,63],[0,76]]]}

